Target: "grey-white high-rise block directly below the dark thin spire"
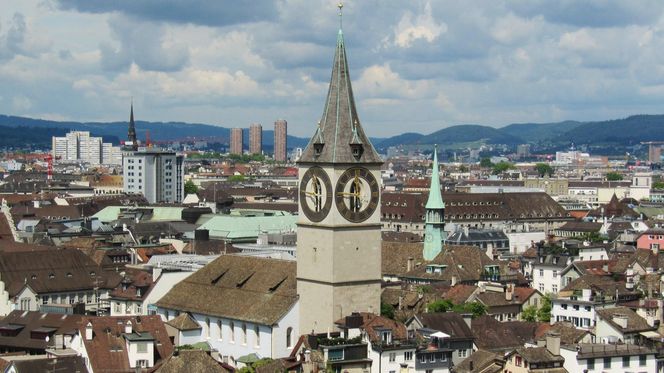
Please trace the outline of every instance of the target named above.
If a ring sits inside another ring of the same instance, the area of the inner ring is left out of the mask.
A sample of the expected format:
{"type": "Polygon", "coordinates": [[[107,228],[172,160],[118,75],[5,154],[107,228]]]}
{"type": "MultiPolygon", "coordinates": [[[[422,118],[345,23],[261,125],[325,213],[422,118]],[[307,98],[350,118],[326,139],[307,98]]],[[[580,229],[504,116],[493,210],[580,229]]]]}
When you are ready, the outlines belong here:
{"type": "Polygon", "coordinates": [[[150,203],[177,203],[184,197],[184,156],[162,150],[125,152],[123,190],[143,194],[150,203]]]}

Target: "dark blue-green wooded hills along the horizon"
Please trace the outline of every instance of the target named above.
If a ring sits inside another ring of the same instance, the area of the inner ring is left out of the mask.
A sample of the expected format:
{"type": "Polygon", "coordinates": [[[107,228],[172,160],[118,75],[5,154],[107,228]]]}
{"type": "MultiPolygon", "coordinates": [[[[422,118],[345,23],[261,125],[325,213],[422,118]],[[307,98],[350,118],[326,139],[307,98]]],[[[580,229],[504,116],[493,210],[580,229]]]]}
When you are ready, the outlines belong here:
{"type": "MultiPolygon", "coordinates": [[[[191,138],[214,139],[228,143],[230,129],[201,123],[184,122],[136,122],[138,137],[145,139],[150,131],[153,141],[174,141],[191,138]]],[[[101,136],[104,141],[117,144],[127,136],[126,122],[80,123],[72,121],[50,121],[0,115],[0,146],[29,144],[50,147],[51,136],[62,136],[70,130],[90,131],[94,136],[101,136]],[[29,128],[30,130],[17,130],[29,128]]],[[[245,131],[248,145],[249,131],[245,131]]],[[[274,132],[263,131],[263,147],[272,149],[274,132]]],[[[288,147],[305,147],[309,138],[288,136],[288,147]]],[[[477,124],[463,124],[440,129],[428,135],[407,132],[390,138],[372,138],[376,148],[385,150],[390,146],[424,145],[442,146],[471,143],[507,144],[548,143],[553,146],[602,145],[608,147],[631,146],[642,141],[664,141],[664,115],[634,115],[623,119],[559,123],[516,123],[502,128],[477,124]]]]}

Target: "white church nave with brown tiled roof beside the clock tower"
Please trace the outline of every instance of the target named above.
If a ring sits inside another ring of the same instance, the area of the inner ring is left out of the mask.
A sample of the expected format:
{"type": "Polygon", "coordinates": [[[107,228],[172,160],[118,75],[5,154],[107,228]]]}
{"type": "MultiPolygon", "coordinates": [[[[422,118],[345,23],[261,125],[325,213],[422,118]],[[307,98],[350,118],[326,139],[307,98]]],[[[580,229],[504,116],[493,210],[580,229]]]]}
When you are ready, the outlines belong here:
{"type": "Polygon", "coordinates": [[[175,285],[156,303],[157,313],[164,321],[187,313],[198,327],[182,330],[178,343],[207,342],[232,365],[249,354],[288,356],[299,337],[295,266],[222,255],[175,285]]]}

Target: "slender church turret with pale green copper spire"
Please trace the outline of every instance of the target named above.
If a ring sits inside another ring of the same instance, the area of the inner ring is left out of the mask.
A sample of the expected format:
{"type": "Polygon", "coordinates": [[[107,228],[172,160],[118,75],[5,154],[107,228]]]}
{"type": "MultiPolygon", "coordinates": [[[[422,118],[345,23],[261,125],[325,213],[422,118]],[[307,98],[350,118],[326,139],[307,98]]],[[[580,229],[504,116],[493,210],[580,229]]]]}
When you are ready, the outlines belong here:
{"type": "Polygon", "coordinates": [[[445,233],[445,202],[440,193],[440,176],[438,171],[438,145],[433,150],[433,165],[431,168],[431,187],[429,199],[425,206],[426,216],[424,223],[424,259],[432,260],[442,249],[447,234],[445,233]]]}

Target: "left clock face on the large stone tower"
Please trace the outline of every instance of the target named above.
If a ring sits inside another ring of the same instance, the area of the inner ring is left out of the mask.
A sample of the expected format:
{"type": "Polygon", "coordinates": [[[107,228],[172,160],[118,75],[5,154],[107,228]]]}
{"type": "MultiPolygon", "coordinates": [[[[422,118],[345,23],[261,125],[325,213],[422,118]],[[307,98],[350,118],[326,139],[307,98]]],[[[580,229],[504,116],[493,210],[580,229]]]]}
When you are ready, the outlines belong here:
{"type": "Polygon", "coordinates": [[[332,183],[320,167],[311,167],[300,181],[300,205],[313,222],[325,219],[332,207],[332,183]]]}

